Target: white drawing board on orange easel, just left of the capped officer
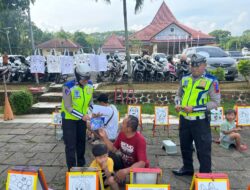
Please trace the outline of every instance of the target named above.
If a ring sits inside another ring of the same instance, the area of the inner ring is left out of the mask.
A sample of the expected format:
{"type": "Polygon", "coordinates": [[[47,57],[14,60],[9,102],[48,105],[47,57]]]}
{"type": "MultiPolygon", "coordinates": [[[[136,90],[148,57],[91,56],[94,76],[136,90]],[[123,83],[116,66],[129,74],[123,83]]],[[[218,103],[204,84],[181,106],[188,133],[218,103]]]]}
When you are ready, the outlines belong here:
{"type": "Polygon", "coordinates": [[[168,125],[168,106],[155,106],[155,125],[168,125]]]}

